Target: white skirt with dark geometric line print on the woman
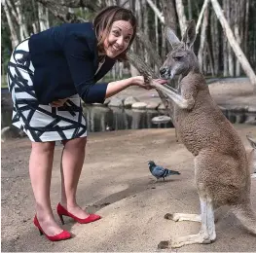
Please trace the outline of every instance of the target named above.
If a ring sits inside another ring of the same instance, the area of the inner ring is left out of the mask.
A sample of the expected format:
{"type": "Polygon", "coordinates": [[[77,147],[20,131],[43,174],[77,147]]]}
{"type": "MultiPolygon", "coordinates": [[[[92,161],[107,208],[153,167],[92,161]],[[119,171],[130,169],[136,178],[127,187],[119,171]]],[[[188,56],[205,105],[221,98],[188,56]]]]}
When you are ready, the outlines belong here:
{"type": "Polygon", "coordinates": [[[79,95],[69,97],[61,107],[40,104],[33,87],[33,75],[27,39],[18,45],[8,63],[7,81],[14,102],[13,125],[35,142],[87,136],[79,95]]]}

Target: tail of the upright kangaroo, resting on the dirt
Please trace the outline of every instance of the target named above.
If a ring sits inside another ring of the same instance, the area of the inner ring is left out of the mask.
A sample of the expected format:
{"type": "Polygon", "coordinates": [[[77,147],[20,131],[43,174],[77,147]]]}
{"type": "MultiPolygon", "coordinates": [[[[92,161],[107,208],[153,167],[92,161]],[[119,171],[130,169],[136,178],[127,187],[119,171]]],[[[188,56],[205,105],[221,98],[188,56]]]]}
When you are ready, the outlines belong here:
{"type": "Polygon", "coordinates": [[[232,209],[241,225],[253,235],[256,235],[256,213],[250,203],[240,204],[232,209]]]}

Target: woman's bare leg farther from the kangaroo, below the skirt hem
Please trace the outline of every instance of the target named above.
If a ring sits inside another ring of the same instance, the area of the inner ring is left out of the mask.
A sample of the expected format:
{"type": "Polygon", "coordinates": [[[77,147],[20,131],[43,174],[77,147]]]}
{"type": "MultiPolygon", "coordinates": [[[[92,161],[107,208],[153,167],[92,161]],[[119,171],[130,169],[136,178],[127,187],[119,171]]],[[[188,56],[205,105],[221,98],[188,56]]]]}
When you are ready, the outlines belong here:
{"type": "Polygon", "coordinates": [[[57,235],[63,230],[55,222],[51,208],[50,186],[55,142],[32,142],[29,174],[36,200],[36,214],[46,235],[57,235]]]}

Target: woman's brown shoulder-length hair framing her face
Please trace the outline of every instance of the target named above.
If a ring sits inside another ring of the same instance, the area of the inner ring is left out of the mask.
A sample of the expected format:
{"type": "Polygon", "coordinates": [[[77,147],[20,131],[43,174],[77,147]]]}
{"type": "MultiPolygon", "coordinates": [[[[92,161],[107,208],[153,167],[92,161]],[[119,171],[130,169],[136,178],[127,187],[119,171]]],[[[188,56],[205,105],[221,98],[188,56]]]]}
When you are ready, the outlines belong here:
{"type": "Polygon", "coordinates": [[[116,57],[118,60],[122,61],[128,59],[127,52],[136,35],[137,21],[132,12],[119,6],[109,6],[96,15],[96,17],[93,19],[93,26],[98,41],[98,51],[99,53],[104,53],[103,43],[110,33],[112,23],[118,20],[129,21],[133,28],[133,34],[129,40],[127,50],[116,57]],[[100,34],[102,34],[102,36],[100,34]]]}

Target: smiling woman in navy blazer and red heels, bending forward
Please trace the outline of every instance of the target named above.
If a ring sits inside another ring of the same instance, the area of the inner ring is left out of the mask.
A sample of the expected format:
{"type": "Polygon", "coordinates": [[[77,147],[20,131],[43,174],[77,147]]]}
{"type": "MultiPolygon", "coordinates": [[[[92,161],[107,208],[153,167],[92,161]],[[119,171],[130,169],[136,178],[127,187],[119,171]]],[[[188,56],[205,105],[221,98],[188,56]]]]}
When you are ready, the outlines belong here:
{"type": "MultiPolygon", "coordinates": [[[[79,223],[100,219],[76,201],[87,143],[81,99],[103,103],[130,86],[148,89],[142,76],[97,84],[117,60],[126,59],[136,33],[136,19],[127,9],[112,6],[93,24],[69,23],[32,35],[15,49],[8,66],[14,101],[13,125],[32,143],[29,174],[36,200],[34,225],[50,240],[70,238],[55,222],[50,185],[55,141],[63,143],[61,199],[57,213],[79,223]]],[[[161,82],[161,81],[159,81],[161,82]]]]}

